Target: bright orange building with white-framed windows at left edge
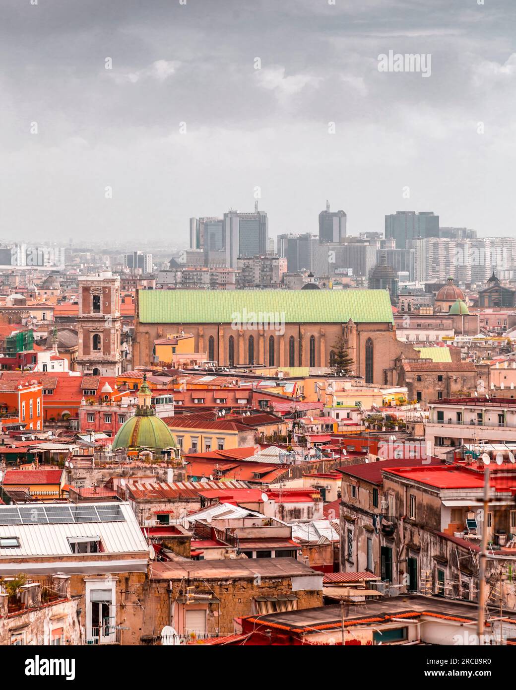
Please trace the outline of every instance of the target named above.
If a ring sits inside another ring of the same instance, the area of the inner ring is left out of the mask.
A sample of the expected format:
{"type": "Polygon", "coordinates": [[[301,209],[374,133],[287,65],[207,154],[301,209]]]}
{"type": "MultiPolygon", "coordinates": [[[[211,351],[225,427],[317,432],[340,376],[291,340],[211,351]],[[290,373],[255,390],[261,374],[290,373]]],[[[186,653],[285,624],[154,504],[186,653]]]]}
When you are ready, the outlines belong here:
{"type": "Polygon", "coordinates": [[[0,422],[43,428],[43,390],[39,383],[0,380],[0,422]]]}

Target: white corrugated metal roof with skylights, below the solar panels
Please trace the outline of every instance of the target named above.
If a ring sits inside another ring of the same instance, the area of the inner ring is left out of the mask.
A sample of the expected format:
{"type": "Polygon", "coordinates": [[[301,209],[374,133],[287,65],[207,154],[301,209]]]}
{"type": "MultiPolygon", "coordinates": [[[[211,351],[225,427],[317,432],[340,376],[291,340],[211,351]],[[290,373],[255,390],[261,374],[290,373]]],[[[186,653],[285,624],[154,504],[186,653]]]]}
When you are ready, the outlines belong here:
{"type": "MultiPolygon", "coordinates": [[[[33,505],[33,504],[30,504],[33,505]]],[[[89,506],[95,504],[88,504],[89,506]]],[[[110,505],[106,502],[102,506],[110,505]]],[[[148,544],[141,533],[135,514],[128,503],[117,502],[123,513],[123,520],[115,522],[66,522],[52,524],[0,524],[1,537],[17,537],[18,549],[0,548],[0,559],[23,558],[24,556],[72,556],[69,538],[100,538],[103,553],[141,553],[148,551],[148,544]]],[[[6,511],[10,506],[0,506],[6,511]]],[[[99,554],[100,556],[102,554],[99,554]]],[[[75,558],[81,558],[75,555],[75,558]]],[[[20,566],[21,567],[21,566],[20,566]]]]}

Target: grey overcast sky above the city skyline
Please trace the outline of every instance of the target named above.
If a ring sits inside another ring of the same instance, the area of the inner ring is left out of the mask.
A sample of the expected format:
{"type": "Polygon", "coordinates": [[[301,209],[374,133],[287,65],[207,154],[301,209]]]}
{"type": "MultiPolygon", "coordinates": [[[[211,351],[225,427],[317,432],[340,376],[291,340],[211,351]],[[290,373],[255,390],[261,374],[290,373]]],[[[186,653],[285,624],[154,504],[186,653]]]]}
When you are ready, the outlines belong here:
{"type": "Polygon", "coordinates": [[[1,0],[0,238],[177,246],[257,187],[270,235],[514,236],[515,41],[514,0],[1,0]]]}

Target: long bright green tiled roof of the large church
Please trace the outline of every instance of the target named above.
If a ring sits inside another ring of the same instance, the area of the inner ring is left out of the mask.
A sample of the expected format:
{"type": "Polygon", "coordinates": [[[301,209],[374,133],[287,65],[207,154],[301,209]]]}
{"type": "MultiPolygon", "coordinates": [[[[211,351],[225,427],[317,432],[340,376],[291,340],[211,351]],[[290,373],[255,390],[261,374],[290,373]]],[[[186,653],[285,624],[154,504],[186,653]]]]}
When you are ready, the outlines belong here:
{"type": "Polygon", "coordinates": [[[229,324],[260,312],[287,324],[394,322],[387,290],[139,290],[138,302],[142,324],[229,324]]]}

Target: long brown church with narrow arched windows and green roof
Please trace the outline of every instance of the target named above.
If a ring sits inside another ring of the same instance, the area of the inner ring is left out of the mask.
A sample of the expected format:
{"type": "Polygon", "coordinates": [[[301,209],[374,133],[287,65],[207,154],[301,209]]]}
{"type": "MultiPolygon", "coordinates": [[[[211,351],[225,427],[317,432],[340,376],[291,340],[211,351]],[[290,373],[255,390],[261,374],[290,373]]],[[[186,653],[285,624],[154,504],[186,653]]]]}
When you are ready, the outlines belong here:
{"type": "Polygon", "coordinates": [[[387,290],[139,290],[133,363],[155,362],[155,341],[192,333],[219,366],[333,366],[344,336],[355,374],[393,384],[395,362],[419,354],[396,339],[387,290]]]}

